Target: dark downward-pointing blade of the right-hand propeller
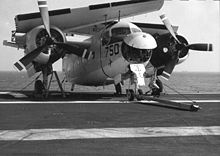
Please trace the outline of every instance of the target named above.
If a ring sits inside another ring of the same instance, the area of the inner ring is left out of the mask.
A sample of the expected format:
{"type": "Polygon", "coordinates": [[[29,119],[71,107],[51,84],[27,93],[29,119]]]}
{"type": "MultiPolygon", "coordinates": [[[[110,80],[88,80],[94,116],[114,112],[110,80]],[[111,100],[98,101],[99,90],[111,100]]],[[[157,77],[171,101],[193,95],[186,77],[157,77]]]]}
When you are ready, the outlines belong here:
{"type": "Polygon", "coordinates": [[[173,69],[175,68],[177,63],[177,59],[171,60],[164,68],[163,73],[161,74],[161,77],[165,80],[169,80],[171,73],[173,72],[173,69]]]}

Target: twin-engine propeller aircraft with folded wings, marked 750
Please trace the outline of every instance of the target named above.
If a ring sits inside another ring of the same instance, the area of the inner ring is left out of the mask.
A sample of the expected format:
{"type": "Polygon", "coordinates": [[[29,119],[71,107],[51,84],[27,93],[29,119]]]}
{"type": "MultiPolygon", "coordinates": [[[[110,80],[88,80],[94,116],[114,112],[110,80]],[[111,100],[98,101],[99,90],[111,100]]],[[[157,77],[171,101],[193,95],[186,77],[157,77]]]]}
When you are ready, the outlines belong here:
{"type": "Polygon", "coordinates": [[[29,77],[42,72],[43,81],[35,90],[48,89],[52,65],[62,59],[66,80],[73,86],[135,84],[128,90],[129,100],[150,78],[153,95],[162,92],[161,76],[169,79],[174,67],[187,59],[189,50],[212,51],[211,44],[188,44],[177,35],[165,15],[164,25],[124,22],[122,18],[161,9],[164,0],[126,0],[75,9],[48,11],[47,1],[38,0],[40,13],[19,14],[11,42],[4,45],[24,49],[25,56],[14,66],[26,69],[29,77]],[[43,86],[43,87],[42,87],[43,86]]]}

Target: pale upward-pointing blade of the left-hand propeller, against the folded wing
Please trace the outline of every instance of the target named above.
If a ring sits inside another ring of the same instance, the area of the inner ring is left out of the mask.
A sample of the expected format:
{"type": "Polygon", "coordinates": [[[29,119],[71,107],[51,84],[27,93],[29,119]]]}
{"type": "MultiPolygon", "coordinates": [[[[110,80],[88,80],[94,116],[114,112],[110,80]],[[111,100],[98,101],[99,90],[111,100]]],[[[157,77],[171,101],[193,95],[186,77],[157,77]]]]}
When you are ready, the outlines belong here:
{"type": "Polygon", "coordinates": [[[42,18],[44,27],[45,27],[48,35],[51,37],[50,18],[49,18],[47,0],[38,0],[38,7],[39,7],[39,10],[40,10],[40,14],[41,14],[41,18],[42,18]]]}

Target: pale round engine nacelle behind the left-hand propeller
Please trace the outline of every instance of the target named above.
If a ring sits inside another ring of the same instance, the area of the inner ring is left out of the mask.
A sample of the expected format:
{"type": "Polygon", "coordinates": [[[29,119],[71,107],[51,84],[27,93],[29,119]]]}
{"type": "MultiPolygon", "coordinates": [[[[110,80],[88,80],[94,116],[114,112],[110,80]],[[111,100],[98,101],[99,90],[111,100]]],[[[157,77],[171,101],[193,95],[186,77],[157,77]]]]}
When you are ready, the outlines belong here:
{"type": "MultiPolygon", "coordinates": [[[[59,28],[52,26],[50,31],[53,40],[58,42],[66,42],[66,37],[59,28]]],[[[31,31],[29,31],[26,35],[25,54],[28,54],[39,46],[42,46],[46,42],[47,37],[48,34],[43,25],[35,27],[31,31]]],[[[58,49],[58,47],[54,45],[48,46],[47,48],[42,50],[42,52],[38,55],[38,57],[34,59],[34,61],[39,64],[47,64],[53,51],[58,50],[60,49],[58,49]]]]}

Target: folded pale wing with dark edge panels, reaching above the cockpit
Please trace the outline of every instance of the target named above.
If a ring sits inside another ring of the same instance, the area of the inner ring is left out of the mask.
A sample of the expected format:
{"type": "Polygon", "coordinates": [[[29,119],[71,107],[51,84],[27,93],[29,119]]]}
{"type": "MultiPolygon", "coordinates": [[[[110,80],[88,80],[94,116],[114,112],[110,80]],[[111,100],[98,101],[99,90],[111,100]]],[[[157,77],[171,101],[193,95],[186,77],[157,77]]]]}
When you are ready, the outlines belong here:
{"type": "MultiPolygon", "coordinates": [[[[164,0],[127,0],[90,5],[75,9],[49,12],[51,25],[63,31],[74,31],[91,25],[159,10],[164,0]]],[[[15,17],[16,32],[27,33],[42,25],[40,13],[20,14],[15,17]]]]}

